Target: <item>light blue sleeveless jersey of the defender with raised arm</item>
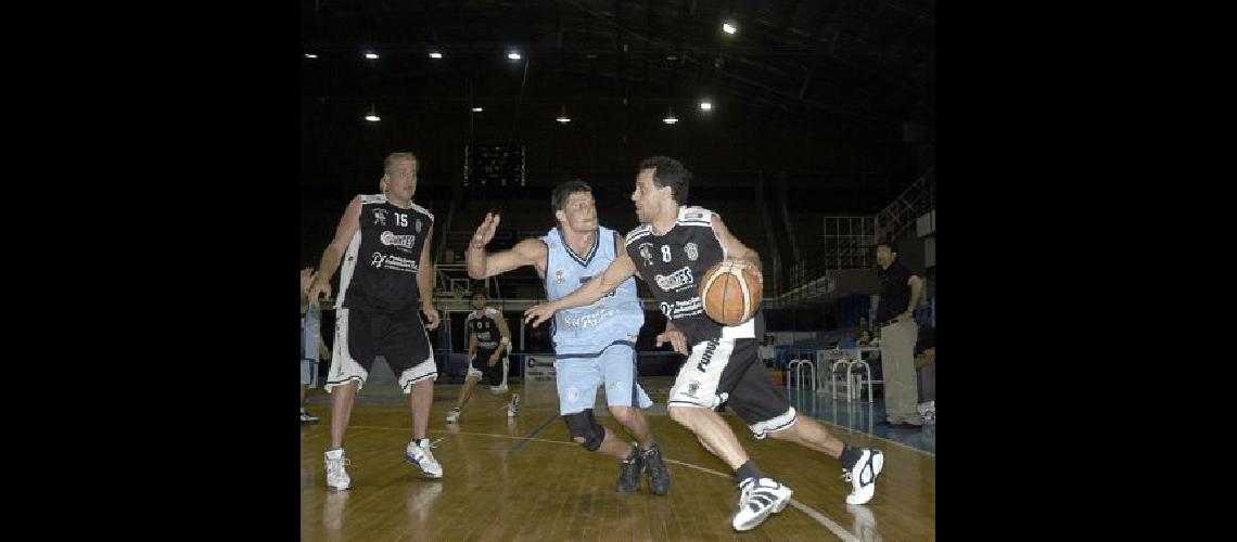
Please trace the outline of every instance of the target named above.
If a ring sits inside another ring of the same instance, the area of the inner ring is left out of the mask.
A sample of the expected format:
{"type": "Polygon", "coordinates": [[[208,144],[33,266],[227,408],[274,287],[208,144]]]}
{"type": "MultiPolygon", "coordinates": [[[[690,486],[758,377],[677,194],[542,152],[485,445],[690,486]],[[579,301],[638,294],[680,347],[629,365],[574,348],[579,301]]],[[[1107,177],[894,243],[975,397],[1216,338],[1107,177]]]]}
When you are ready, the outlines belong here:
{"type": "MultiPolygon", "coordinates": [[[[576,254],[554,227],[541,237],[547,247],[546,295],[550,301],[579,289],[600,275],[615,261],[615,233],[604,226],[586,254],[576,254]]],[[[554,352],[559,359],[573,354],[596,354],[616,342],[635,342],[644,311],[636,296],[636,279],[623,280],[612,293],[593,305],[554,314],[554,352]]]]}

